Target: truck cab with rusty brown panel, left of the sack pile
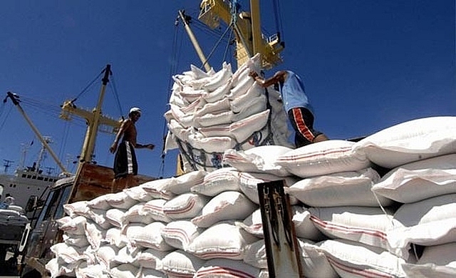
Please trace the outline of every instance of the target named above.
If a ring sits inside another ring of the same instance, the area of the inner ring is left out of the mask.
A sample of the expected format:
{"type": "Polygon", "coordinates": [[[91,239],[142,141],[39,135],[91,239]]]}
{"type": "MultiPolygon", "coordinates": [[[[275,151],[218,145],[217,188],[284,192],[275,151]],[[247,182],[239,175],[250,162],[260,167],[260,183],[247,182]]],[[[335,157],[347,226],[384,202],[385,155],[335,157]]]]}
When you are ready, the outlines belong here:
{"type": "MultiPolygon", "coordinates": [[[[31,230],[24,232],[27,237],[26,252],[24,252],[24,269],[21,277],[36,278],[50,277],[46,264],[54,256],[51,246],[63,240],[63,232],[58,230],[56,220],[65,216],[63,205],[92,200],[100,195],[111,192],[114,173],[111,168],[83,163],[75,176],[65,177],[53,185],[46,196],[46,200],[33,200],[30,203],[39,215],[31,225],[31,230]]],[[[155,180],[144,175],[135,176],[135,185],[155,180]]],[[[35,197],[36,198],[36,197],[35,197]]]]}

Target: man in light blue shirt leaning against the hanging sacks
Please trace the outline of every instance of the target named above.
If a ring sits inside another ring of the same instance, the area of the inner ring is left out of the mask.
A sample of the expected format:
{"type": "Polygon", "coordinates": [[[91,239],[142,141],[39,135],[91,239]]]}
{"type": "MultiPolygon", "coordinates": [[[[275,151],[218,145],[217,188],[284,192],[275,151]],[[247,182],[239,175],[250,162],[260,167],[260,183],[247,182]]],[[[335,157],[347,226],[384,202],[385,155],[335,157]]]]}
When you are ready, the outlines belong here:
{"type": "Polygon", "coordinates": [[[250,72],[249,76],[264,88],[279,84],[284,109],[295,130],[296,148],[328,140],[326,135],[314,130],[314,112],[304,90],[304,83],[293,71],[277,71],[269,79],[259,77],[255,71],[250,72]]]}

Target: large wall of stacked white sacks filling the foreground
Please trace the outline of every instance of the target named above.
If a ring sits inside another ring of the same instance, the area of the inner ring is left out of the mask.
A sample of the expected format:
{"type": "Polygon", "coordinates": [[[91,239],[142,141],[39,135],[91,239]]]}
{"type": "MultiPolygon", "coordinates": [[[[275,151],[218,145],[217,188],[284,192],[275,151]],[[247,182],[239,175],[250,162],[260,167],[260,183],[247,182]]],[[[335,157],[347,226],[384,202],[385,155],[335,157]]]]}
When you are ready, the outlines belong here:
{"type": "Polygon", "coordinates": [[[455,277],[455,128],[456,117],[424,118],[358,143],[227,150],[232,167],[66,205],[66,242],[47,267],[53,277],[268,277],[257,184],[285,180],[306,277],[455,277]]]}

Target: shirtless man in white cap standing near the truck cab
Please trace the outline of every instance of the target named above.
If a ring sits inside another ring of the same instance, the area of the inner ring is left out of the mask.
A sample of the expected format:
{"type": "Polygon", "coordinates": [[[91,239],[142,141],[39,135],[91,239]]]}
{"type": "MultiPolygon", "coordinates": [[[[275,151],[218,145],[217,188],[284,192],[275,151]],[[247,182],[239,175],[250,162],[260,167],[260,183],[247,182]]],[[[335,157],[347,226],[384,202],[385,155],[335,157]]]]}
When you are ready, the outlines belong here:
{"type": "Polygon", "coordinates": [[[135,123],[140,117],[141,109],[138,107],[131,108],[128,119],[124,120],[122,125],[120,125],[120,129],[117,135],[115,135],[114,143],[109,148],[111,153],[115,153],[112,192],[118,192],[133,185],[133,176],[138,175],[135,148],[148,148],[152,150],[155,147],[153,144],[141,145],[136,143],[138,133],[136,132],[135,123]],[[118,145],[120,137],[122,137],[122,141],[118,145]],[[124,178],[125,185],[124,182],[120,182],[124,178]]]}

